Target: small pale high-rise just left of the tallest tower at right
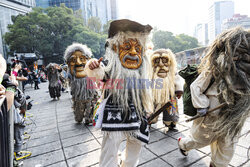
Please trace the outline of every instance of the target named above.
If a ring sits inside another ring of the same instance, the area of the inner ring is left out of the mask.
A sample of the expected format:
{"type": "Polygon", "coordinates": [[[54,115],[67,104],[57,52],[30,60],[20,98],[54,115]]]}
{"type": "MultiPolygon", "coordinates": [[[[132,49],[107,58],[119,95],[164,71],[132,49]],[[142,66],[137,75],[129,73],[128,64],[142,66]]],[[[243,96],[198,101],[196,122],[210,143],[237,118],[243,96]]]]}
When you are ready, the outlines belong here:
{"type": "Polygon", "coordinates": [[[195,26],[194,37],[197,38],[199,45],[208,45],[208,24],[200,23],[195,26]]]}

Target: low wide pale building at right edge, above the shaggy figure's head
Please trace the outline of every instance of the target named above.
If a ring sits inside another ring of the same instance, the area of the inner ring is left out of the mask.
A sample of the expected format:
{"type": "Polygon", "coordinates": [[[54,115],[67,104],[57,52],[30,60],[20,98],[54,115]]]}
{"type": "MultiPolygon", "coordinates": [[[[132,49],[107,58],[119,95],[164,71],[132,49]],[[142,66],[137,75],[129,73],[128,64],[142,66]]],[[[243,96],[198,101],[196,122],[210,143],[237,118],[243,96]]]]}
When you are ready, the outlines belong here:
{"type": "Polygon", "coordinates": [[[236,26],[241,26],[243,28],[249,29],[250,17],[248,17],[247,15],[234,14],[233,17],[223,21],[221,28],[223,31],[236,26]]]}

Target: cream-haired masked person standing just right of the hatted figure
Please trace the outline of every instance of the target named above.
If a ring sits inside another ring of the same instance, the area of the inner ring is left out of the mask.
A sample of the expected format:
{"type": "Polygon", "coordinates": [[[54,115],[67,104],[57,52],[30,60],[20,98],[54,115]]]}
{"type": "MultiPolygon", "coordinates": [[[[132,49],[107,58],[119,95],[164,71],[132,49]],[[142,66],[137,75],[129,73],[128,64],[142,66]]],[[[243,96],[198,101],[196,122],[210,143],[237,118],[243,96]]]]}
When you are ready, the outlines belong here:
{"type": "MultiPolygon", "coordinates": [[[[163,112],[163,123],[168,130],[174,130],[179,120],[177,99],[183,94],[182,78],[177,74],[175,55],[169,49],[158,49],[151,55],[152,79],[162,80],[161,89],[153,89],[154,109],[158,111],[164,104],[171,102],[171,106],[163,112]]],[[[152,123],[156,123],[156,117],[152,123]]]]}

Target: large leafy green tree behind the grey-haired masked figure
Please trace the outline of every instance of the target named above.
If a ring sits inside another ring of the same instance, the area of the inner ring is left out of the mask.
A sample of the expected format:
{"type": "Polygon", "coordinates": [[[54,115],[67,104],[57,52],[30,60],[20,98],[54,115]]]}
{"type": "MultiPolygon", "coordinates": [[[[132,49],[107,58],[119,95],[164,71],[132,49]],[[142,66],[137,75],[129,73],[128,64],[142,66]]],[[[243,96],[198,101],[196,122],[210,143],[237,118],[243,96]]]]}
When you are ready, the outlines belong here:
{"type": "Polygon", "coordinates": [[[105,35],[83,25],[72,9],[65,5],[47,9],[33,8],[26,15],[12,17],[9,32],[4,35],[10,51],[43,55],[45,63],[62,63],[66,47],[73,42],[87,44],[95,56],[104,54],[105,35]]]}

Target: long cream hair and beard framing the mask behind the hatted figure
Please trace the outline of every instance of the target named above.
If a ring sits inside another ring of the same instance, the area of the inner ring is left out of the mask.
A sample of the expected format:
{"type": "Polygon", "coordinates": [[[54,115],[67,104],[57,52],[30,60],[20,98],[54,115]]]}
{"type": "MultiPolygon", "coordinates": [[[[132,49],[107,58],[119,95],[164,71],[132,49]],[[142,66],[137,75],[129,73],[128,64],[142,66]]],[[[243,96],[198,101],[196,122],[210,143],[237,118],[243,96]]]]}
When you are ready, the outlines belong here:
{"type": "Polygon", "coordinates": [[[170,100],[170,97],[174,97],[175,95],[175,74],[177,72],[177,62],[175,59],[175,55],[172,53],[170,49],[160,49],[154,51],[151,55],[151,76],[153,80],[162,79],[162,88],[157,89],[154,88],[152,90],[153,100],[155,104],[165,104],[170,100]],[[155,67],[154,60],[158,57],[166,57],[168,58],[168,69],[165,66],[155,67]],[[165,69],[168,71],[167,76],[165,78],[161,78],[157,75],[160,69],[165,69]]]}

